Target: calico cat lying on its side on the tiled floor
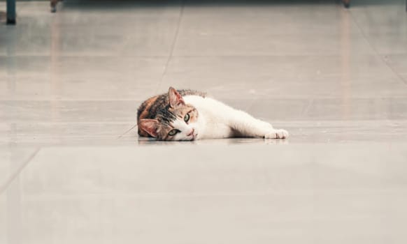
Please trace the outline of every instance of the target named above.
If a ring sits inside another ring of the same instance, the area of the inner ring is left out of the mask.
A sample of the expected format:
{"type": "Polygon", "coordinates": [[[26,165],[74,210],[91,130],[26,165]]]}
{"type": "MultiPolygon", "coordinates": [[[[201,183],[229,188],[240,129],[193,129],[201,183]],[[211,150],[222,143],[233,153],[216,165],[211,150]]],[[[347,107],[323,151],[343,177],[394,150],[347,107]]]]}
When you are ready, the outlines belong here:
{"type": "Polygon", "coordinates": [[[138,135],[162,141],[229,137],[286,139],[286,130],[208,98],[206,93],[169,88],[145,100],[137,111],[138,135]]]}

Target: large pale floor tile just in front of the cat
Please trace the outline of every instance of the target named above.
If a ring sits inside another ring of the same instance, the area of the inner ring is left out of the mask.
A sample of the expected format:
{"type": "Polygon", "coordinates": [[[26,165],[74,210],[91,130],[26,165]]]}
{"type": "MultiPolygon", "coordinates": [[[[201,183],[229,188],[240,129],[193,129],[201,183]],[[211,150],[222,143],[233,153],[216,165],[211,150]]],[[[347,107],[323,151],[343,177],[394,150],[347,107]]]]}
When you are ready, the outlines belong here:
{"type": "Polygon", "coordinates": [[[404,188],[407,183],[404,144],[381,146],[363,144],[320,145],[323,151],[303,144],[292,146],[210,146],[201,150],[191,144],[178,144],[185,149],[182,158],[168,164],[168,156],[176,155],[171,146],[112,147],[101,151],[99,147],[50,147],[42,148],[22,172],[22,194],[29,196],[78,195],[78,194],[129,194],[129,195],[229,195],[255,192],[309,190],[378,190],[404,188]],[[241,148],[249,148],[245,153],[241,148]],[[353,148],[351,148],[353,147],[353,148]],[[301,148],[301,149],[300,149],[301,148]],[[372,149],[376,155],[371,155],[372,149]],[[292,151],[297,155],[293,156],[292,151]],[[341,154],[338,151],[348,151],[341,154]],[[218,156],[220,151],[227,157],[218,156]],[[274,155],[264,160],[263,155],[274,155]],[[159,153],[158,153],[159,152],[159,153]],[[210,152],[210,153],[209,153],[210,152]],[[315,153],[318,153],[315,158],[315,153]],[[387,158],[392,153],[392,158],[387,158]],[[116,155],[122,160],[111,164],[116,155]],[[149,161],[155,154],[162,160],[149,161]],[[162,155],[162,156],[159,156],[162,155]],[[190,158],[195,158],[191,161],[190,158]],[[293,158],[294,157],[294,158],[293,158]],[[286,162],[286,158],[292,161],[286,162]],[[353,162],[347,161],[352,158],[353,162]],[[371,160],[365,169],[362,158],[371,160]],[[383,159],[389,162],[383,161],[383,159]],[[249,160],[250,159],[250,160],[249,160]],[[55,160],[59,163],[55,164],[55,160]],[[315,161],[316,160],[316,161],[315,161]],[[94,170],[94,163],[97,169],[94,170]],[[314,163],[313,163],[314,162],[314,163]],[[386,170],[383,170],[386,167],[386,170]],[[47,169],[44,171],[43,169],[47,169]],[[338,170],[335,170],[338,169],[338,170]],[[48,172],[64,171],[64,176],[48,172]],[[252,174],[247,174],[251,171],[252,174]],[[297,175],[285,178],[286,174],[297,175]],[[318,177],[323,173],[333,178],[318,177]],[[319,173],[319,174],[318,174],[319,173]],[[119,177],[120,176],[120,177],[119,177]],[[347,181],[338,181],[346,177],[347,181]],[[385,181],[387,179],[388,181],[385,181]],[[280,185],[274,185],[273,181],[280,185]],[[77,185],[78,184],[78,185],[77,185]]]}

